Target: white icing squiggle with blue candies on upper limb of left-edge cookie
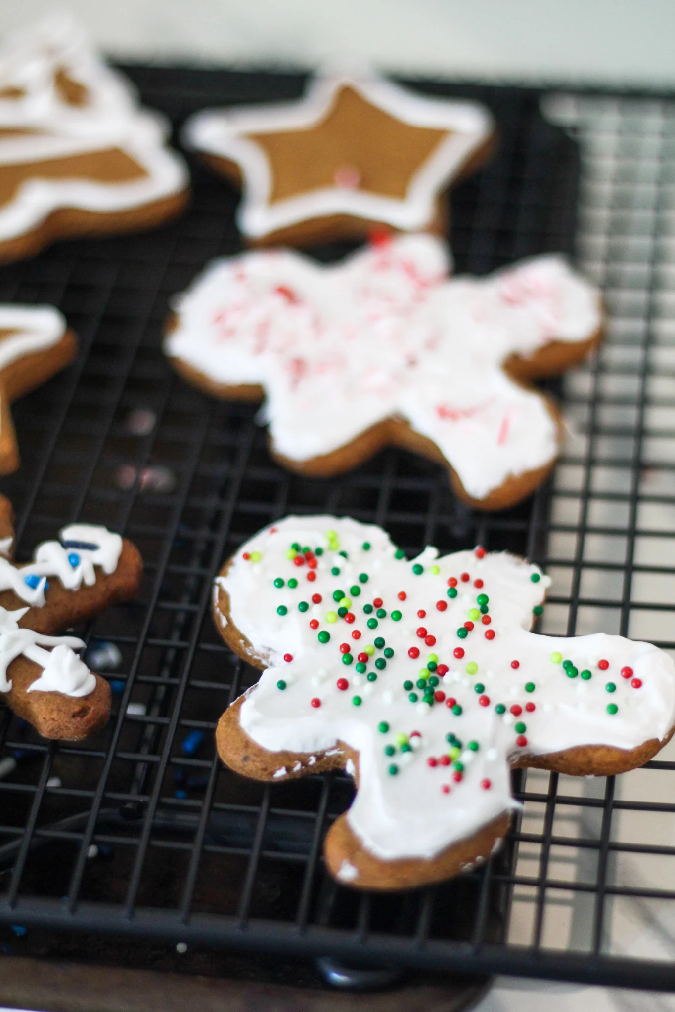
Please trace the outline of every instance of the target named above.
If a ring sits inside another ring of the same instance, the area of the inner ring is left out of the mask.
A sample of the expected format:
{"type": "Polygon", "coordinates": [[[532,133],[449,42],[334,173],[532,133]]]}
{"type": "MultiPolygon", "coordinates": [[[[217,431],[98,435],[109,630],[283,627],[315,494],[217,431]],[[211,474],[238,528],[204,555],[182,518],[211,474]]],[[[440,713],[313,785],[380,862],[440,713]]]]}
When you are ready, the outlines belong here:
{"type": "Polygon", "coordinates": [[[13,590],[33,607],[43,607],[48,577],[58,577],[68,590],[96,582],[95,566],[114,573],[121,555],[122,540],[106,527],[72,523],[64,527],[59,541],[43,541],[33,553],[34,562],[16,567],[0,559],[0,591],[13,590]]]}

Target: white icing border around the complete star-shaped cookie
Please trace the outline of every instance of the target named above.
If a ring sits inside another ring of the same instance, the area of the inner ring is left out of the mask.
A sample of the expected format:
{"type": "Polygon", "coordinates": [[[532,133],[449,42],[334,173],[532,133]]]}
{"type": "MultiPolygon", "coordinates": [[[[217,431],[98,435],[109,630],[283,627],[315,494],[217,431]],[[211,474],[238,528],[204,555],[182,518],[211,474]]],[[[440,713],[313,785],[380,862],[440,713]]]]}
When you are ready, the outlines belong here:
{"type": "Polygon", "coordinates": [[[493,130],[487,108],[476,102],[428,98],[379,78],[359,80],[340,76],[311,81],[300,101],[198,112],[188,119],[183,141],[189,148],[239,165],[244,193],[237,224],[245,236],[260,238],[299,222],[330,215],[351,215],[407,231],[423,229],[434,217],[439,191],[459,175],[493,130]],[[263,148],[247,135],[317,126],[330,114],[339,91],[345,87],[395,119],[447,134],[414,172],[403,199],[360,189],[358,165],[350,165],[341,175],[338,170],[335,186],[273,199],[273,167],[263,148]],[[350,178],[344,178],[345,175],[350,178]]]}

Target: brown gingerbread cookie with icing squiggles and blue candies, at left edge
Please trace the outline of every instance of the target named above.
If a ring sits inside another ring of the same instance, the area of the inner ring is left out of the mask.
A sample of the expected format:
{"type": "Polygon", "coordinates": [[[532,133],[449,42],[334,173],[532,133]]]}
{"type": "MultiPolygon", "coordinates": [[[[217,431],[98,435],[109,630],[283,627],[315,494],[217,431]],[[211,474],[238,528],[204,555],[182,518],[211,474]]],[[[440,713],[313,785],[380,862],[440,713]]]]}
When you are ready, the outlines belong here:
{"type": "Polygon", "coordinates": [[[105,527],[73,523],[59,536],[14,564],[11,505],[0,496],[0,693],[45,738],[79,741],[106,724],[110,686],[75,653],[82,640],[56,634],[134,597],[143,561],[105,527]]]}

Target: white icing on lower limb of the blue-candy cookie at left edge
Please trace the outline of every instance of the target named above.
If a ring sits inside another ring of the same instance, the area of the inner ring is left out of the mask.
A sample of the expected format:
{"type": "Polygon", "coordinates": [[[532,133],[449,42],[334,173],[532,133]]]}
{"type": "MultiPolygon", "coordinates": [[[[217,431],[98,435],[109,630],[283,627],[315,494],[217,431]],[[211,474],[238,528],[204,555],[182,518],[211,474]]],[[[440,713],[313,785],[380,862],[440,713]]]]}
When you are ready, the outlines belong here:
{"type": "Polygon", "coordinates": [[[72,650],[84,647],[83,641],[74,636],[43,636],[33,629],[19,628],[17,623],[26,611],[28,608],[7,611],[0,607],[0,692],[11,689],[7,668],[21,655],[43,668],[40,677],[28,686],[28,692],[63,692],[76,698],[93,692],[96,678],[72,650]]]}

